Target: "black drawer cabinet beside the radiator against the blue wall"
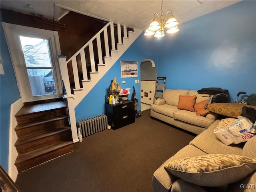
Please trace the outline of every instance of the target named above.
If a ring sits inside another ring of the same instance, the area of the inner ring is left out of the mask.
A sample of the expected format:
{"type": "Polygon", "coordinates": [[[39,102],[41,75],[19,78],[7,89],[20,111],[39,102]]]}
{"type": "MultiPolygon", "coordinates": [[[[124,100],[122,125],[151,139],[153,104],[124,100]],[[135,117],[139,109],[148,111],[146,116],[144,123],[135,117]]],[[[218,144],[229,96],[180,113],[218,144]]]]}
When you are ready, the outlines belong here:
{"type": "Polygon", "coordinates": [[[124,103],[116,105],[106,103],[105,106],[108,124],[112,129],[118,129],[135,122],[133,101],[125,100],[124,103]]]}

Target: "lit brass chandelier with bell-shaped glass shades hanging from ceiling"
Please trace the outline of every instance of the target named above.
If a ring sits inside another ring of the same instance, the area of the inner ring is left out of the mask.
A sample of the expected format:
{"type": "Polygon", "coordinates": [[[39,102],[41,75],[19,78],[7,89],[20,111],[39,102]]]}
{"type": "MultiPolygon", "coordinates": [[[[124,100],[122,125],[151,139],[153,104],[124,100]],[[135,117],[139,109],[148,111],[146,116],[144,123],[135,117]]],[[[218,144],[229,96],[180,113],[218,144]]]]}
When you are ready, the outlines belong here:
{"type": "Polygon", "coordinates": [[[163,37],[165,36],[164,29],[167,29],[166,30],[167,34],[176,33],[179,31],[178,24],[179,24],[178,21],[172,15],[172,11],[169,10],[164,17],[163,0],[162,0],[160,16],[157,13],[154,14],[154,19],[150,21],[149,26],[144,33],[144,36],[154,35],[154,37],[163,37]],[[167,17],[169,13],[170,13],[170,16],[167,17]],[[156,19],[156,16],[158,17],[158,20],[156,19]]]}

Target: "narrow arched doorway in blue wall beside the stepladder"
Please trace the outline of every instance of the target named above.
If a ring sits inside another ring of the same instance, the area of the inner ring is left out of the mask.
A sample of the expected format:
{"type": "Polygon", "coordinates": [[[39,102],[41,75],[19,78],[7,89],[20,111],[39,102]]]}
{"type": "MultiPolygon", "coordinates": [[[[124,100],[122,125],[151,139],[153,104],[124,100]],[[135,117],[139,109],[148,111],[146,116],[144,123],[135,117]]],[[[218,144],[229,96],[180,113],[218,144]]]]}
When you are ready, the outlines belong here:
{"type": "Polygon", "coordinates": [[[150,109],[154,102],[156,89],[157,68],[151,59],[144,59],[140,63],[140,110],[150,109]]]}

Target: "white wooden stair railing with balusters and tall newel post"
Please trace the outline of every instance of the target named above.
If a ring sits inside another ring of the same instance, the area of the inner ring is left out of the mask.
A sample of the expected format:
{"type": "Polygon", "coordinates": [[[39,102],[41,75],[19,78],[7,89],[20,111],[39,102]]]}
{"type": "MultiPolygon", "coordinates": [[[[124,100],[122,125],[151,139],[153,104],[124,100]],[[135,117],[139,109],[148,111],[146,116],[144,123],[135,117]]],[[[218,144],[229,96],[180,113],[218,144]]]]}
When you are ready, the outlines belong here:
{"type": "MultiPolygon", "coordinates": [[[[128,38],[127,36],[127,26],[122,25],[123,27],[123,37],[128,38]]],[[[117,24],[117,35],[118,35],[118,42],[117,44],[122,44],[122,34],[121,34],[121,24],[117,24]]],[[[90,82],[87,75],[87,67],[86,67],[86,56],[85,56],[85,49],[89,48],[89,56],[90,56],[90,63],[91,63],[91,71],[90,73],[98,73],[96,71],[95,65],[95,58],[94,58],[94,48],[93,48],[93,41],[96,39],[97,42],[97,51],[98,51],[98,61],[99,64],[104,64],[104,58],[110,58],[110,48],[109,48],[109,39],[111,41],[111,50],[116,50],[116,42],[115,42],[115,34],[114,34],[114,23],[108,22],[106,26],[104,26],[96,35],[94,35],[80,50],[78,50],[70,59],[66,60],[66,56],[58,56],[58,62],[60,66],[60,73],[62,76],[62,81],[66,90],[66,94],[63,96],[68,101],[68,112],[70,116],[70,126],[72,130],[72,139],[73,142],[78,142],[78,134],[76,128],[76,117],[75,117],[75,110],[74,110],[74,94],[71,92],[70,86],[70,78],[68,75],[68,64],[71,62],[73,76],[74,76],[74,84],[75,88],[73,90],[82,90],[83,88],[80,87],[80,80],[79,80],[79,73],[78,73],[78,66],[77,66],[77,56],[80,55],[81,65],[82,65],[82,75],[83,80],[82,82],[90,82]],[[110,37],[108,37],[108,26],[110,26],[110,37]],[[105,54],[106,56],[103,57],[102,55],[102,42],[101,42],[101,34],[104,36],[104,45],[105,45],[105,54]]]]}

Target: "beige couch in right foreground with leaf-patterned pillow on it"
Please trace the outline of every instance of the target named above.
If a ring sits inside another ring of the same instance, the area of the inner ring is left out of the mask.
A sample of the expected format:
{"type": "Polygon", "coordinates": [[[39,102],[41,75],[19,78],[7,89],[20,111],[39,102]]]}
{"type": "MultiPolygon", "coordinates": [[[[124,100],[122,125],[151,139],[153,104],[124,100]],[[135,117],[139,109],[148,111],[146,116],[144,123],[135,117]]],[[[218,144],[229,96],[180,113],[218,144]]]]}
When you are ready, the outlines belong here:
{"type": "Polygon", "coordinates": [[[227,146],[213,134],[219,122],[215,120],[154,172],[154,192],[256,191],[256,136],[227,146]],[[207,158],[213,164],[205,164],[207,158]],[[190,171],[191,164],[198,164],[199,170],[190,171]],[[186,166],[188,170],[183,170],[186,166]],[[208,170],[214,166],[215,170],[208,170]]]}

